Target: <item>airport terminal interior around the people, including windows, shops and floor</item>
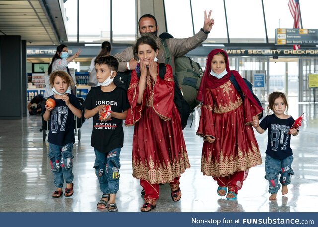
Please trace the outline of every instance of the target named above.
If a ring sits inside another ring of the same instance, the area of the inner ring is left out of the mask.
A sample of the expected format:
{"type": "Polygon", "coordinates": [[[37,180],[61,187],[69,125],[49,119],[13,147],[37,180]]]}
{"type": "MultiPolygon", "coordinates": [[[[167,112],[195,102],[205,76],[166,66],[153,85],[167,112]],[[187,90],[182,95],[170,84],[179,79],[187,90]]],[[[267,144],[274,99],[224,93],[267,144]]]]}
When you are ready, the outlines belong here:
{"type": "MultiPolygon", "coordinates": [[[[89,65],[103,41],[112,44],[111,54],[132,46],[139,36],[138,19],[147,13],[156,17],[158,35],[169,32],[175,38],[187,38],[202,28],[204,10],[212,10],[215,25],[187,56],[204,70],[208,53],[224,49],[230,69],[254,85],[265,115],[268,94],[273,91],[287,95],[288,115],[296,119],[304,113],[299,134],[291,138],[295,174],[288,193],[279,191],[277,200],[269,200],[264,178],[268,136],[254,129],[262,164],[250,168],[236,200],[220,197],[216,181],[201,172],[198,106],[183,130],[191,168],[180,178],[182,197],[172,201],[169,185],[162,184],[151,212],[318,212],[318,24],[311,17],[318,2],[299,1],[301,17],[296,30],[312,32],[311,40],[300,35],[302,44],[281,45],[279,29],[296,31],[288,2],[0,0],[0,212],[107,212],[96,206],[102,193],[93,168],[92,119],[75,130],[74,194],[52,198],[56,188],[48,158],[48,132],[42,130],[41,115],[27,111],[30,100],[44,92],[44,74],[59,44],[66,44],[70,55],[82,50],[69,68],[77,79],[77,96],[84,99],[90,90],[89,65]]],[[[116,196],[119,212],[140,212],[144,203],[139,180],[132,176],[133,132],[133,127],[124,127],[116,196]]]]}

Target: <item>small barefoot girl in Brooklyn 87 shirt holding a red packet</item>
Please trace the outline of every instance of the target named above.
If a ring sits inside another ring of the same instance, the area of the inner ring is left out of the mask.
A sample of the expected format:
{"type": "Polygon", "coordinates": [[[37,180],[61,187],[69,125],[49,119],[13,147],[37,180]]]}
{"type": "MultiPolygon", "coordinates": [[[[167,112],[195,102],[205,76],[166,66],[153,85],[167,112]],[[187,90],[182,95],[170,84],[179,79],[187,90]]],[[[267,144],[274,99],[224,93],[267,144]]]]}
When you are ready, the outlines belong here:
{"type": "Polygon", "coordinates": [[[282,92],[273,92],[268,97],[267,115],[261,123],[255,119],[256,131],[263,133],[268,129],[268,143],[265,160],[265,179],[269,181],[270,200],[276,200],[277,192],[280,189],[278,183],[282,184],[282,195],[288,193],[287,185],[290,184],[292,175],[291,167],[293,162],[293,151],[290,148],[290,134],[297,136],[298,130],[292,128],[295,120],[292,116],[286,115],[288,110],[287,98],[282,92]],[[259,123],[259,124],[258,124],[259,123]]]}

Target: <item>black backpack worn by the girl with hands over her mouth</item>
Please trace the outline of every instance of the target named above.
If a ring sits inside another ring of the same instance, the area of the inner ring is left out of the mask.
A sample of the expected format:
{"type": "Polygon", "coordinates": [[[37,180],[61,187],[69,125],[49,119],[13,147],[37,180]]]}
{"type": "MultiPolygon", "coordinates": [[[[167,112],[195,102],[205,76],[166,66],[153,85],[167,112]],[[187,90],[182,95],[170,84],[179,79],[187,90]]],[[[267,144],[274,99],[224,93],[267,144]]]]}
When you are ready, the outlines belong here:
{"type": "MultiPolygon", "coordinates": [[[[165,71],[166,71],[165,63],[159,63],[159,77],[160,77],[160,79],[164,79],[165,71]]],[[[117,76],[115,76],[115,78],[116,77],[117,76]]],[[[140,73],[137,73],[137,77],[140,78],[140,73]]],[[[180,90],[180,87],[179,87],[178,80],[174,75],[173,75],[173,80],[174,80],[174,98],[173,98],[173,101],[174,101],[174,104],[179,111],[182,129],[184,129],[185,126],[187,125],[188,118],[189,118],[190,113],[191,113],[191,108],[190,108],[189,104],[184,100],[183,95],[182,95],[181,90],[180,90]]]]}

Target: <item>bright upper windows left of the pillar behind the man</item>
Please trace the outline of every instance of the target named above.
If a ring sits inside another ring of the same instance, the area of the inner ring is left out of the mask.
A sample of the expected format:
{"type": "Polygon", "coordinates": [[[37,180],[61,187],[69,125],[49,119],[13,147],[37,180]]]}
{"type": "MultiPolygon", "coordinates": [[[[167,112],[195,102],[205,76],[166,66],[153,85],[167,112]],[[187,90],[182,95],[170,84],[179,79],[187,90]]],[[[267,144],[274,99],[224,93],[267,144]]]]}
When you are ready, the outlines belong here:
{"type": "Polygon", "coordinates": [[[78,41],[77,8],[79,6],[79,42],[101,43],[111,38],[112,43],[134,42],[136,40],[135,0],[113,0],[112,17],[110,2],[110,0],[67,0],[64,6],[68,41],[78,41]],[[123,5],[125,7],[122,7],[123,5]]]}

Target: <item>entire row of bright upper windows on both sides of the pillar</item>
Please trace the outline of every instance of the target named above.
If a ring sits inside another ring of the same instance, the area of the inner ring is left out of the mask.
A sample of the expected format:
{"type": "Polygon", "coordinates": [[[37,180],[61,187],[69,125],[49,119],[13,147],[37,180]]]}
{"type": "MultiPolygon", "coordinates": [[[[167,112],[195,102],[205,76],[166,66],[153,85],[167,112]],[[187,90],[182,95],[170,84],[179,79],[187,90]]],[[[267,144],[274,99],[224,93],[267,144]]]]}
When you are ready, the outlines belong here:
{"type": "MultiPolygon", "coordinates": [[[[211,18],[214,18],[215,24],[205,43],[228,43],[228,34],[230,43],[266,43],[262,2],[269,43],[275,41],[275,29],[293,27],[288,0],[163,1],[167,30],[176,38],[185,38],[197,33],[204,24],[204,11],[208,13],[212,10],[211,18]]],[[[105,39],[112,39],[115,43],[132,43],[138,34],[136,2],[136,0],[67,0],[64,6],[68,18],[69,42],[77,42],[79,7],[79,42],[100,43],[105,39]],[[122,7],[123,5],[125,7],[122,7]],[[111,27],[112,37],[110,37],[111,27]]],[[[303,28],[318,29],[317,20],[313,19],[317,8],[317,0],[300,2],[303,28]]]]}

